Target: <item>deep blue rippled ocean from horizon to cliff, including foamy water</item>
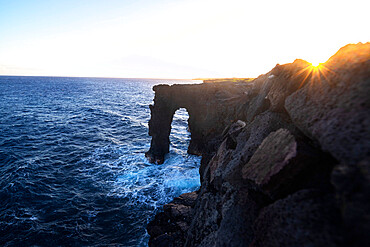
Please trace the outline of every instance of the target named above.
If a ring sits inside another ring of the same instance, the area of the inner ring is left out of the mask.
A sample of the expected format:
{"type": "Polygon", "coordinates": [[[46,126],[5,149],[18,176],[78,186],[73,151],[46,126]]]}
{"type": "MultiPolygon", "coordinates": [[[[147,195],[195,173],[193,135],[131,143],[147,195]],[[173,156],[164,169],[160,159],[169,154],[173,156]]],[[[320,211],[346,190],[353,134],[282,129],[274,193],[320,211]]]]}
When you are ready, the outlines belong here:
{"type": "Polygon", "coordinates": [[[178,110],[163,165],[147,162],[155,84],[0,76],[0,246],[146,246],[161,206],[196,190],[178,110]]]}

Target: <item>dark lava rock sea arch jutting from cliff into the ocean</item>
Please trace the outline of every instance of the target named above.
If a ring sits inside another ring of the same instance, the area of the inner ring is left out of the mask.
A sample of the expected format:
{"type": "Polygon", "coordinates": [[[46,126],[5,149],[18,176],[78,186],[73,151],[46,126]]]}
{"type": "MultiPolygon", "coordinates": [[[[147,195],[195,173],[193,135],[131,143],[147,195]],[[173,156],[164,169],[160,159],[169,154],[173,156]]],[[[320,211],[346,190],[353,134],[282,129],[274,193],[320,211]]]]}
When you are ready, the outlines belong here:
{"type": "Polygon", "coordinates": [[[225,127],[235,121],[230,106],[237,105],[235,99],[245,96],[235,85],[223,83],[156,85],[153,90],[154,105],[149,106],[152,141],[145,155],[151,163],[157,164],[162,164],[169,152],[171,123],[176,110],[185,108],[189,114],[191,139],[188,153],[203,155],[219,144],[225,127]]]}

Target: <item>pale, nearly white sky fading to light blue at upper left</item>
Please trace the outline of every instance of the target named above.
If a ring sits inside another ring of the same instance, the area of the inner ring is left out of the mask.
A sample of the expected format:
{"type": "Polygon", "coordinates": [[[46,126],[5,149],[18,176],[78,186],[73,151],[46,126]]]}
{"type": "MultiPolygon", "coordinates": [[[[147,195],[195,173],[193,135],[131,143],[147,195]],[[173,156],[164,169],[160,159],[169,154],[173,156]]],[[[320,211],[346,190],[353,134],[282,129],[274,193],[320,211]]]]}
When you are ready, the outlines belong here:
{"type": "Polygon", "coordinates": [[[256,77],[370,41],[367,0],[0,0],[0,75],[256,77]]]}

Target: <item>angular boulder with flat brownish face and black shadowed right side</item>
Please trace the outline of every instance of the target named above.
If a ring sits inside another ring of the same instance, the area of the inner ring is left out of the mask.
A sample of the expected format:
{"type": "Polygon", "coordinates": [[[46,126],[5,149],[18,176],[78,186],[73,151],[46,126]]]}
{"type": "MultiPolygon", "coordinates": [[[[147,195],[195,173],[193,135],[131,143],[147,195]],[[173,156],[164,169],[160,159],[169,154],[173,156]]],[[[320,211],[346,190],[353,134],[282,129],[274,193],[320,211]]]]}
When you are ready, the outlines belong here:
{"type": "Polygon", "coordinates": [[[328,183],[335,163],[289,130],[279,129],[263,140],[244,165],[242,176],[276,200],[304,187],[324,187],[322,182],[328,183]]]}

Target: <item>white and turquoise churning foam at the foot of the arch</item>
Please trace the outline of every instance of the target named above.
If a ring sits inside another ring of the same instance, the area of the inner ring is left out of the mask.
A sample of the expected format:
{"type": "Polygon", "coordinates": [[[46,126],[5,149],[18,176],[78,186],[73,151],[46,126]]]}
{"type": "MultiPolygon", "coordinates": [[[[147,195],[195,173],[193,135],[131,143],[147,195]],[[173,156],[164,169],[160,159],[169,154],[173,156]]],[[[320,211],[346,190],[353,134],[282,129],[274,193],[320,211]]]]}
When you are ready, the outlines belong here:
{"type": "Polygon", "coordinates": [[[162,165],[149,164],[141,154],[125,157],[109,196],[157,208],[200,186],[199,163],[200,157],[176,152],[168,154],[162,165]]]}

